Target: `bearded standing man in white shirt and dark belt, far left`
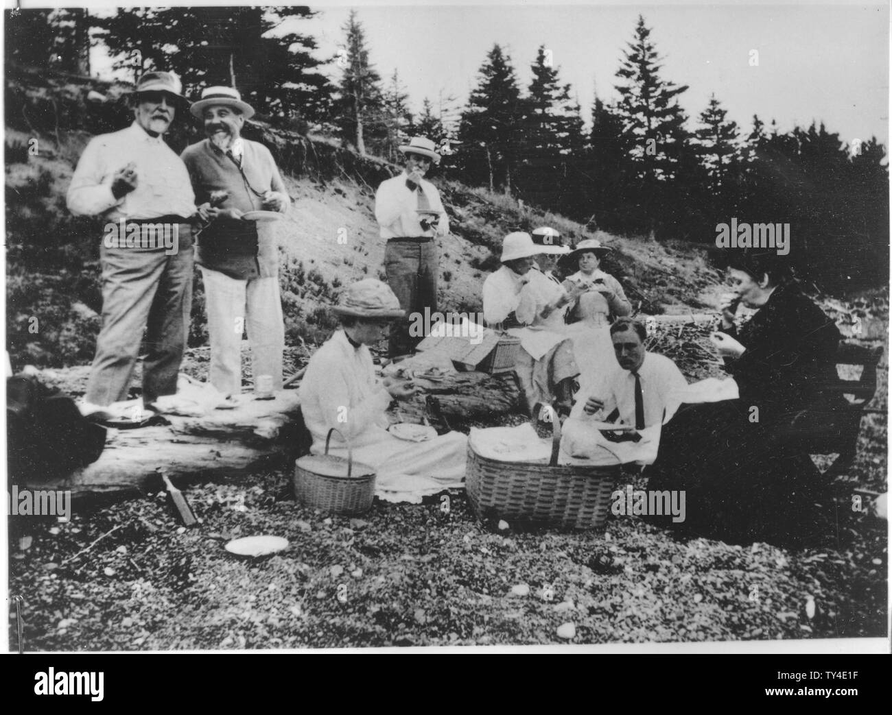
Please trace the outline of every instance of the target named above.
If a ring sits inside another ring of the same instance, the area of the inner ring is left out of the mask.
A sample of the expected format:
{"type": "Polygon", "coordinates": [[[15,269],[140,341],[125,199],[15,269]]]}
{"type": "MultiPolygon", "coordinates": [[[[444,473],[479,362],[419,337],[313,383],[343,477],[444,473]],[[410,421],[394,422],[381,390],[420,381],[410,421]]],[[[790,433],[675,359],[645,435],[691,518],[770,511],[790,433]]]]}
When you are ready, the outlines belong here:
{"type": "Polygon", "coordinates": [[[71,177],[71,213],[105,222],[103,325],[85,414],[128,399],[144,331],[145,407],[177,391],[192,305],[195,197],[186,166],[163,136],[188,107],[181,91],[175,75],[146,72],[130,95],[133,124],[91,139],[71,177]]]}

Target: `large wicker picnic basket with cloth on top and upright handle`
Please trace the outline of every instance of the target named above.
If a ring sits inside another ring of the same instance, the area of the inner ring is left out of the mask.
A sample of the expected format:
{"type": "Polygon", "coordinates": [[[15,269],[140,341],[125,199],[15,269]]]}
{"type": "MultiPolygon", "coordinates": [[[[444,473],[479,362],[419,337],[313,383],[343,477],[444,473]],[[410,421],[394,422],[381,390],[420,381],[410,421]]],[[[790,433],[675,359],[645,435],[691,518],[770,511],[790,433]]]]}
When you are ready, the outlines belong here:
{"type": "Polygon", "coordinates": [[[558,464],[560,422],[552,421],[549,464],[500,462],[467,443],[465,486],[477,519],[562,529],[598,529],[607,519],[619,465],[558,464]]]}

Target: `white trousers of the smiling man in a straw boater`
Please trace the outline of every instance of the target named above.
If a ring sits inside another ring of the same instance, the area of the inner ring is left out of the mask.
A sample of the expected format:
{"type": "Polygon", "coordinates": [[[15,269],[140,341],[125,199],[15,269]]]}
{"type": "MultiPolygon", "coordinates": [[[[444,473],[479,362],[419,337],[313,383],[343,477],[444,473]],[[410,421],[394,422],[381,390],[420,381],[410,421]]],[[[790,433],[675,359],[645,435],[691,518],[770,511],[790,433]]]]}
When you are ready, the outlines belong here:
{"type": "Polygon", "coordinates": [[[272,377],[273,390],[281,390],[285,322],[278,277],[240,281],[201,268],[211,338],[211,384],[224,395],[241,393],[242,333],[247,329],[255,391],[259,375],[272,377]]]}

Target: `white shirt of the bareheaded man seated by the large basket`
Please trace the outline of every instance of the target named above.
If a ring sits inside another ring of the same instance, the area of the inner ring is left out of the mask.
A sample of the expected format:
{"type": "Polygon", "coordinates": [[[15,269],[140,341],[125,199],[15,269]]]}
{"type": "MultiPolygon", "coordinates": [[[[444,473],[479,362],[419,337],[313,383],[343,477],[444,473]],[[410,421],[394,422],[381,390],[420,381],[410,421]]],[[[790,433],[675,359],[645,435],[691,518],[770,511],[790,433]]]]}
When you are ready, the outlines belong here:
{"type": "MultiPolygon", "coordinates": [[[[650,427],[663,422],[663,410],[667,407],[669,393],[677,388],[686,387],[688,381],[684,379],[681,370],[665,355],[657,355],[648,352],[644,355],[644,362],[638,371],[641,381],[641,397],[644,399],[644,424],[650,427]]],[[[576,404],[570,413],[573,419],[604,420],[615,409],[619,409],[619,416],[625,424],[635,423],[635,376],[628,370],[624,370],[618,363],[614,363],[603,383],[606,394],[592,394],[583,385],[576,404]],[[584,411],[586,401],[591,397],[604,400],[604,407],[594,415],[586,415],[584,411]]]]}

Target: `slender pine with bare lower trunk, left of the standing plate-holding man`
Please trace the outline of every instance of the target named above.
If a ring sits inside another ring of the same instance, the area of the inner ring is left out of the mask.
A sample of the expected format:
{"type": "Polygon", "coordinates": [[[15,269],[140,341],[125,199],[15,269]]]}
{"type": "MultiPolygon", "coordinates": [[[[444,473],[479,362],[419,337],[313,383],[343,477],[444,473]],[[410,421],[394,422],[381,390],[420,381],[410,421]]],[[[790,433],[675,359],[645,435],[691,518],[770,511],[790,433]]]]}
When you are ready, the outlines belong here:
{"type": "Polygon", "coordinates": [[[351,142],[360,154],[366,153],[367,139],[380,137],[384,98],[381,77],[368,59],[366,34],[352,10],[343,26],[346,33],[345,67],[341,79],[341,98],[338,108],[344,139],[351,142]]]}

